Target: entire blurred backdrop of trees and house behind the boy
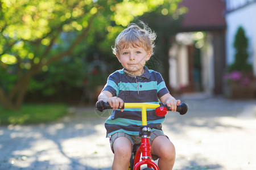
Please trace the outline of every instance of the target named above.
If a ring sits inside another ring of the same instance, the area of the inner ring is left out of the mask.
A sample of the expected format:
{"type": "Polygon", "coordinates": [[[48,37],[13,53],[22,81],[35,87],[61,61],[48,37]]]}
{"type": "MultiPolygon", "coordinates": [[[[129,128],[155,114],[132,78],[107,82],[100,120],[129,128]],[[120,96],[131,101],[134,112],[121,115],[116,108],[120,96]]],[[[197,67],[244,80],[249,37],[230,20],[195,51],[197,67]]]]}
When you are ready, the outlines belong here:
{"type": "Polygon", "coordinates": [[[254,0],[1,0],[1,114],[94,105],[109,74],[122,69],[115,37],[139,20],[157,33],[146,65],[171,94],[255,99],[255,16],[254,0]]]}

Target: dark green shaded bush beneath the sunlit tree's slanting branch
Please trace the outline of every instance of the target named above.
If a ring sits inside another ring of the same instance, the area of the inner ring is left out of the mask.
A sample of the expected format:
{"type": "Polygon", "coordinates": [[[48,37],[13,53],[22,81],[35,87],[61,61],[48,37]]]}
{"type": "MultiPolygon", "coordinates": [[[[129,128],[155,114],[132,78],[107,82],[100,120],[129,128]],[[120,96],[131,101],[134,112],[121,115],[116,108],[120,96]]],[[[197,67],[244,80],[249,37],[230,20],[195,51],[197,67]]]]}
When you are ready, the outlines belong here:
{"type": "Polygon", "coordinates": [[[47,72],[42,72],[31,79],[28,92],[51,96],[67,94],[73,87],[82,86],[83,65],[81,59],[65,57],[48,66],[47,72]]]}

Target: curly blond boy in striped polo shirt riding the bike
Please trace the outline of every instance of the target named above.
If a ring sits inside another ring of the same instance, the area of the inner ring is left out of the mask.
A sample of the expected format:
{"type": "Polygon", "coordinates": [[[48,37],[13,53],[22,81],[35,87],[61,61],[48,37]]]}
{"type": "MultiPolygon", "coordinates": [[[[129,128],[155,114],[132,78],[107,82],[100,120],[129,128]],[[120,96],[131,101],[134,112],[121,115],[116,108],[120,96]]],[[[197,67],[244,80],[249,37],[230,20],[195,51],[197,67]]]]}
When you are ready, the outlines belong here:
{"type": "MultiPolygon", "coordinates": [[[[112,169],[126,170],[132,147],[140,142],[139,126],[141,111],[121,109],[127,103],[166,103],[171,111],[176,111],[180,100],[172,97],[166,88],[162,76],[145,65],[150,59],[156,35],[147,25],[143,28],[130,24],[115,40],[113,53],[123,66],[108,78],[98,100],[107,101],[113,108],[112,115],[106,120],[107,137],[114,153],[112,169]]],[[[164,135],[162,123],[164,117],[158,117],[155,111],[147,111],[148,126],[151,128],[152,155],[158,156],[161,170],[172,169],[175,162],[175,147],[164,135]]]]}

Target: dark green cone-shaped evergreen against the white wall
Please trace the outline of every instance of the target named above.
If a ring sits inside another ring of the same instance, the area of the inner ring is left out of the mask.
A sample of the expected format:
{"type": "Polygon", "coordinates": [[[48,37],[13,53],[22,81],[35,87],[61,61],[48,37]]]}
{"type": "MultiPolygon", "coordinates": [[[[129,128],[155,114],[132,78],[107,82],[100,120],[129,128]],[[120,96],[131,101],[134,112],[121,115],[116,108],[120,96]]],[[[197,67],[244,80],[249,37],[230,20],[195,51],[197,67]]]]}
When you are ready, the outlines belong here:
{"type": "Polygon", "coordinates": [[[229,66],[229,71],[244,71],[250,72],[253,67],[247,63],[249,54],[247,53],[248,39],[245,36],[245,31],[242,27],[239,27],[234,40],[234,48],[236,54],[234,56],[235,61],[229,66]]]}

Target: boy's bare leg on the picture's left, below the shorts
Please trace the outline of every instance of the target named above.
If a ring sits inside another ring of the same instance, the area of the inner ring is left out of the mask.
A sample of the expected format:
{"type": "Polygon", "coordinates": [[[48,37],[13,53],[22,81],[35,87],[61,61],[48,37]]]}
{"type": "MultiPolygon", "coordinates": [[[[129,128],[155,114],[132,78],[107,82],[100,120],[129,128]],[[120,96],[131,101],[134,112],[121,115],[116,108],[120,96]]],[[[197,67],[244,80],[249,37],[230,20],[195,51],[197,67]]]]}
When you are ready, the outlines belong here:
{"type": "Polygon", "coordinates": [[[113,144],[114,162],[113,170],[127,170],[131,157],[131,142],[126,137],[119,137],[115,139],[113,144]]]}

